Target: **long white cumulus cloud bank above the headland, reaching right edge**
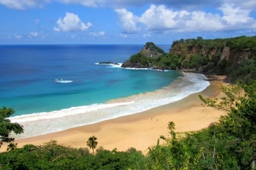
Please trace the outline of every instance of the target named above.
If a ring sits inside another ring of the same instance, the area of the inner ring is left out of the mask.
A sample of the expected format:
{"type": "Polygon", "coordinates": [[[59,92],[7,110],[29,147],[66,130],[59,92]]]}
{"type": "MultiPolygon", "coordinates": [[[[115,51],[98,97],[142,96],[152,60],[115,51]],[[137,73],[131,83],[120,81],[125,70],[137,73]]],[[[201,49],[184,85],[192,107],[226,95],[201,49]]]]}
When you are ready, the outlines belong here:
{"type": "Polygon", "coordinates": [[[224,4],[218,9],[222,14],[204,11],[174,11],[164,5],[151,5],[141,16],[136,16],[124,8],[115,11],[119,15],[121,27],[125,32],[132,28],[139,30],[140,28],[136,27],[137,23],[142,23],[148,31],[184,32],[255,28],[256,20],[250,17],[250,10],[235,7],[234,4],[224,4]],[[120,11],[122,11],[121,17],[120,11]]]}

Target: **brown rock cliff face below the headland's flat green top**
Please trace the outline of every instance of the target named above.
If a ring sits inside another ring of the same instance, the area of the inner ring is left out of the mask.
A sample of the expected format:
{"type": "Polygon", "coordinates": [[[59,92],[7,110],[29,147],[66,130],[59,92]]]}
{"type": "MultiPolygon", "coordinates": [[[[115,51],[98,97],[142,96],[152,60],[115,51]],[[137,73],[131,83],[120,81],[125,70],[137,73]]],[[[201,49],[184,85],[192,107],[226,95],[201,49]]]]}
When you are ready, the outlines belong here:
{"type": "Polygon", "coordinates": [[[189,43],[172,45],[169,53],[180,57],[180,69],[205,74],[230,74],[230,69],[236,65],[253,59],[256,50],[253,48],[233,49],[229,46],[212,47],[189,43]],[[197,63],[191,64],[197,60],[197,63]]]}

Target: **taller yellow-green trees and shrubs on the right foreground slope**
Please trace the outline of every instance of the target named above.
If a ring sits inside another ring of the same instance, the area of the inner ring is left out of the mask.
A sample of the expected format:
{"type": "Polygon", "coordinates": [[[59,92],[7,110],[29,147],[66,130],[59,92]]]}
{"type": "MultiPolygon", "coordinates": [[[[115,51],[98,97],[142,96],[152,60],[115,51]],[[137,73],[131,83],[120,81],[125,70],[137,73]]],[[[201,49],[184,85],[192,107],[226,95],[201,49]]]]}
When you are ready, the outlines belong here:
{"type": "Polygon", "coordinates": [[[219,122],[198,132],[161,136],[166,144],[151,147],[151,169],[251,170],[256,161],[256,82],[222,87],[221,99],[204,105],[224,110],[219,122]]]}

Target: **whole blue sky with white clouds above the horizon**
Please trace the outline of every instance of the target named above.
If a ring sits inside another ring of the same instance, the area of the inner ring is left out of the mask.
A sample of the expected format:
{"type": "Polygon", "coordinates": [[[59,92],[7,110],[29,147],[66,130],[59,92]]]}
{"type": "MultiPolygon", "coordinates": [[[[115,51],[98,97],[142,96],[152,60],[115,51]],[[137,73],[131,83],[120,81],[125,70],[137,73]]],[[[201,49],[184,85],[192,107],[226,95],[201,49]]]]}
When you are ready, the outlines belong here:
{"type": "Polygon", "coordinates": [[[172,44],[254,36],[256,0],[0,0],[0,44],[172,44]]]}

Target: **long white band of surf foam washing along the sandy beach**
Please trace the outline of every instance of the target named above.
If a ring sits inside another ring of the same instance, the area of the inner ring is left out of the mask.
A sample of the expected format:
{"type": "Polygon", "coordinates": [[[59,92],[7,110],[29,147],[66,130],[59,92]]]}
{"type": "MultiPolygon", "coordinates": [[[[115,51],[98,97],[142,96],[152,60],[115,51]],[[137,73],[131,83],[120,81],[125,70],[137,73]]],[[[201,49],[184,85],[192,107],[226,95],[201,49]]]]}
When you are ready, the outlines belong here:
{"type": "Polygon", "coordinates": [[[207,78],[203,74],[186,73],[169,86],[159,90],[113,99],[105,104],[14,116],[10,118],[11,121],[18,122],[24,127],[24,133],[14,137],[25,138],[61,131],[166,105],[203,91],[209,85],[204,79],[207,78]]]}

